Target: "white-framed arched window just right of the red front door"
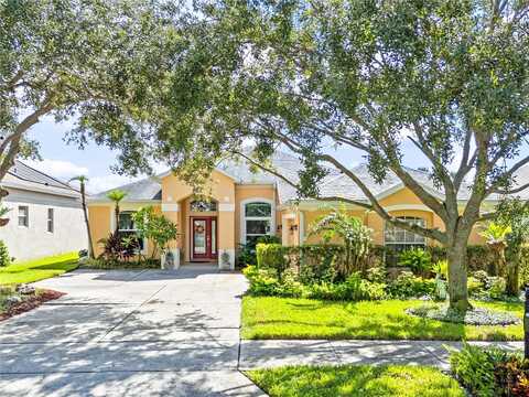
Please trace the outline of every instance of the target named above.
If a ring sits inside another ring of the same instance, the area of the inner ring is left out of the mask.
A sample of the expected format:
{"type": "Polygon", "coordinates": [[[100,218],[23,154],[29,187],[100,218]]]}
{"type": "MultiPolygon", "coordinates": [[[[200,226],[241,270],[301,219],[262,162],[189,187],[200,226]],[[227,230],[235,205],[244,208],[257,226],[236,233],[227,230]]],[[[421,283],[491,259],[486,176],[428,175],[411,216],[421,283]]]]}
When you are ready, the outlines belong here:
{"type": "Polygon", "coordinates": [[[274,205],[266,198],[247,200],[241,203],[241,244],[256,244],[261,236],[274,233],[274,205]]]}

